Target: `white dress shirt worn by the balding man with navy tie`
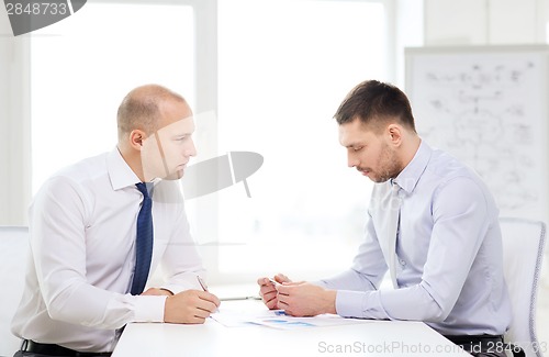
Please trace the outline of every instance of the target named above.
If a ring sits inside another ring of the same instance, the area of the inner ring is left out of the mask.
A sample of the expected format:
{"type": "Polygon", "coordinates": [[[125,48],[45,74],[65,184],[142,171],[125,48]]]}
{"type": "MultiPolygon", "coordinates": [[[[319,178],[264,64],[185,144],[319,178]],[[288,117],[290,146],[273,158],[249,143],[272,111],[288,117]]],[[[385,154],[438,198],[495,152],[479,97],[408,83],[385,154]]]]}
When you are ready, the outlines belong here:
{"type": "MultiPolygon", "coordinates": [[[[143,194],[117,148],[49,178],[30,208],[31,253],[12,332],[79,352],[111,352],[128,322],[163,322],[166,297],[131,295],[143,194]]],[[[201,259],[178,181],[155,182],[150,275],[163,288],[201,289],[201,259]]],[[[150,276],[149,275],[149,276],[150,276]]]]}

